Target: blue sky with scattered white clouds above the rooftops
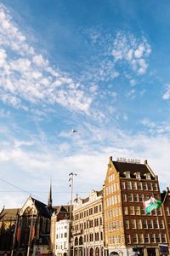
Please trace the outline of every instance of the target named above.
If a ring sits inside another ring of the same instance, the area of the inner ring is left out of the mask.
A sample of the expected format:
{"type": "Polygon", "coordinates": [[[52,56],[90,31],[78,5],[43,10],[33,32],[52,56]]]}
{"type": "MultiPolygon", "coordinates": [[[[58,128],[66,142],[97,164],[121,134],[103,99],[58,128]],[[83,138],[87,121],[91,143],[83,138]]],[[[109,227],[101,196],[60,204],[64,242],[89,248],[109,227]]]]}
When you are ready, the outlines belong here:
{"type": "Polygon", "coordinates": [[[0,0],[0,208],[71,202],[71,172],[84,198],[110,156],[167,189],[169,42],[167,0],[0,0]]]}

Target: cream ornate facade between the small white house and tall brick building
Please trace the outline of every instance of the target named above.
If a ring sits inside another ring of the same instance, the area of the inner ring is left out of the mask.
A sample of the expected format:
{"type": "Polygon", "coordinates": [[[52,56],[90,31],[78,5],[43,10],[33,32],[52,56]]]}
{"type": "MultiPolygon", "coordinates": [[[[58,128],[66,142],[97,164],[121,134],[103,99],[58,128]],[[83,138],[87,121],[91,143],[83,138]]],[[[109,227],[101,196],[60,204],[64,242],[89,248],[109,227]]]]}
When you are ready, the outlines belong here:
{"type": "Polygon", "coordinates": [[[75,200],[73,216],[73,255],[103,256],[103,189],[75,200]]]}

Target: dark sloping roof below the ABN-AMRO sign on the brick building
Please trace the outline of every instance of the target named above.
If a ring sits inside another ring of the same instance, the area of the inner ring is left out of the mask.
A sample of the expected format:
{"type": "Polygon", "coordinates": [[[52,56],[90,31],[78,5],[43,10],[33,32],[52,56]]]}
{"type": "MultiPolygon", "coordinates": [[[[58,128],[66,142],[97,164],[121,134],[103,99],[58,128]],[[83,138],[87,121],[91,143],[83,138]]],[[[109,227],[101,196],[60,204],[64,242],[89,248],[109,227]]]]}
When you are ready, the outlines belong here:
{"type": "Polygon", "coordinates": [[[112,161],[116,168],[116,171],[120,173],[120,177],[124,177],[124,172],[130,172],[131,177],[135,177],[135,172],[140,172],[141,178],[144,177],[146,173],[151,174],[151,178],[154,179],[154,173],[145,164],[133,164],[127,162],[112,161]]]}

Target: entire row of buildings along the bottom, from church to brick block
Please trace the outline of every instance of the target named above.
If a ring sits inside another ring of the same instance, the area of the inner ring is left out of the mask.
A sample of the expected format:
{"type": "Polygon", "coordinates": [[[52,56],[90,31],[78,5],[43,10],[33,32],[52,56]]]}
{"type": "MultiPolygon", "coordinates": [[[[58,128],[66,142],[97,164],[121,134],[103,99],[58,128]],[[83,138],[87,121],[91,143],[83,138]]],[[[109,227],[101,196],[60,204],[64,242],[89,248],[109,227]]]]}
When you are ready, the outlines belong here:
{"type": "Polygon", "coordinates": [[[48,205],[30,196],[0,213],[0,255],[168,255],[169,235],[170,192],[160,194],[147,160],[110,157],[103,187],[72,206],[52,207],[50,187],[48,205]],[[150,196],[162,205],[146,215],[150,196]]]}

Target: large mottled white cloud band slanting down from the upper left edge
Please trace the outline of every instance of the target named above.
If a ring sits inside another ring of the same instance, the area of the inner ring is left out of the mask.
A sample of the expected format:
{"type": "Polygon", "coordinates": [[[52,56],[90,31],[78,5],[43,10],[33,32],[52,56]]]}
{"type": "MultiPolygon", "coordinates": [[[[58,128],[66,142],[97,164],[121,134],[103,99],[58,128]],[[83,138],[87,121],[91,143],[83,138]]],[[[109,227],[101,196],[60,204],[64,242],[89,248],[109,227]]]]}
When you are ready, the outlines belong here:
{"type": "Polygon", "coordinates": [[[4,103],[28,110],[25,102],[43,102],[88,113],[93,96],[81,86],[50,66],[0,6],[0,96],[4,103]]]}

